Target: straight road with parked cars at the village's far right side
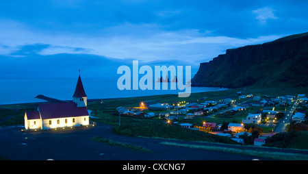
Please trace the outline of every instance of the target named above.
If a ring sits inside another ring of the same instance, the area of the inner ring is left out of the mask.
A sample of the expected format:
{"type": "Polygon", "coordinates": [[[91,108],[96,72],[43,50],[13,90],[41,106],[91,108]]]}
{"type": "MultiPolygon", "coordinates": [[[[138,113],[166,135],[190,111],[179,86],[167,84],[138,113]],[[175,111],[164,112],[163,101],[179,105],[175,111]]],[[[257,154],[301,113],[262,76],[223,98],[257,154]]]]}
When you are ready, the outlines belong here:
{"type": "Polygon", "coordinates": [[[290,109],[285,113],[285,116],[283,117],[283,119],[281,119],[280,123],[277,125],[277,127],[275,127],[273,132],[285,132],[286,131],[287,125],[290,122],[292,122],[293,112],[296,109],[298,103],[299,103],[299,99],[295,99],[294,101],[292,101],[292,105],[290,109]]]}

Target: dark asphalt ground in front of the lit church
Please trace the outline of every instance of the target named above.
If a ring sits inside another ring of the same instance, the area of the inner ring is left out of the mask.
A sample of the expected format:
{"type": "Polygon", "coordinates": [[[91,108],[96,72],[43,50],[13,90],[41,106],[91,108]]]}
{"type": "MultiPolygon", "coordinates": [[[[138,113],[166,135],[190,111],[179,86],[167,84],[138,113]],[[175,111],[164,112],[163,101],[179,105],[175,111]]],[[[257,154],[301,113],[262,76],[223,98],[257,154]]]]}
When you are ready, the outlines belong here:
{"type": "MultiPolygon", "coordinates": [[[[22,132],[23,127],[0,127],[0,156],[9,160],[268,160],[253,156],[233,153],[190,149],[162,145],[159,142],[179,142],[196,145],[217,145],[205,142],[183,142],[159,138],[139,138],[119,136],[112,132],[112,127],[99,123],[95,127],[73,127],[40,132],[22,132]],[[102,136],[110,140],[128,142],[131,145],[146,147],[153,152],[144,152],[116,145],[107,145],[90,140],[93,136],[102,136]]],[[[259,149],[261,147],[234,146],[235,148],[259,149]]],[[[269,151],[288,151],[287,149],[270,149],[269,151]]],[[[296,151],[307,153],[308,151],[296,151]]]]}

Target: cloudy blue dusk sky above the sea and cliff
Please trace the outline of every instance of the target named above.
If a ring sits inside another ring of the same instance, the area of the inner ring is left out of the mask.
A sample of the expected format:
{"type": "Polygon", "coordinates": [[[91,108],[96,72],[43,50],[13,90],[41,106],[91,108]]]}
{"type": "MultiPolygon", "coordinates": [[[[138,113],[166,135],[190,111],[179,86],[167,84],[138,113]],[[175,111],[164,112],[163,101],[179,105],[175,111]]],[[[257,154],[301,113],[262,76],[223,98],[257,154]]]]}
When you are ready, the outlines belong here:
{"type": "Polygon", "coordinates": [[[308,30],[308,1],[0,1],[0,78],[191,65],[308,30]]]}

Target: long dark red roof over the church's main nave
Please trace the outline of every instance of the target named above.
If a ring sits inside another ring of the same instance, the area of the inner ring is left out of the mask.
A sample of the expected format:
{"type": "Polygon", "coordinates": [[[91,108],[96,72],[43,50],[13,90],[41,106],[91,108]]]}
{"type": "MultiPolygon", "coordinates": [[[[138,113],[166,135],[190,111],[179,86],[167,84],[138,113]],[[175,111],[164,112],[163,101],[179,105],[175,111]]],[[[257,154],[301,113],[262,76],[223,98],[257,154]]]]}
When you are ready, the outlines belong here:
{"type": "Polygon", "coordinates": [[[63,117],[88,116],[86,107],[77,108],[71,103],[47,103],[38,105],[42,119],[57,119],[63,117]]]}

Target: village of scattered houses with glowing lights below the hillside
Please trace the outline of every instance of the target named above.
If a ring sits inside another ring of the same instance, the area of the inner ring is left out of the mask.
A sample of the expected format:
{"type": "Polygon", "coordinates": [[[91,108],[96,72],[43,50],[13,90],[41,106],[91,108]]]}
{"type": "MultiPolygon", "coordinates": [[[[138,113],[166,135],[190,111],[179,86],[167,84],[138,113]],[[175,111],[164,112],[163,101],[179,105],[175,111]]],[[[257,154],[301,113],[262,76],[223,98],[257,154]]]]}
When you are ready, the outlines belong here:
{"type": "Polygon", "coordinates": [[[216,134],[242,145],[262,146],[266,138],[285,132],[290,123],[307,121],[308,98],[305,95],[271,97],[237,92],[238,98],[210,101],[140,101],[138,107],[116,108],[118,116],[158,119],[170,126],[216,134]],[[222,122],[223,121],[223,122],[222,122]],[[279,130],[278,125],[284,125],[279,130]]]}

